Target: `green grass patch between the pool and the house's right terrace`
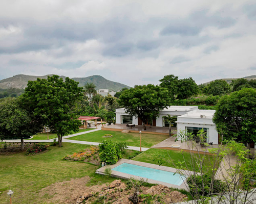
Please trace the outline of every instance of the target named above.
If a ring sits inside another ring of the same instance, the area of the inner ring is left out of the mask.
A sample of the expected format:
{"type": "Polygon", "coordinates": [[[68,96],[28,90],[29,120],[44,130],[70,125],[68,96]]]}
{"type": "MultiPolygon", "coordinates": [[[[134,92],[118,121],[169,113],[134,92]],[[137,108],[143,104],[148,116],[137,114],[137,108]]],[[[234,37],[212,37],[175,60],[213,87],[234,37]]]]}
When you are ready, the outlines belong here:
{"type": "MultiPolygon", "coordinates": [[[[176,168],[176,166],[181,165],[182,169],[186,169],[185,164],[180,164],[179,162],[186,161],[187,163],[187,170],[190,171],[198,171],[198,168],[193,168],[193,165],[191,165],[191,155],[189,152],[184,152],[178,150],[167,150],[167,149],[148,149],[147,151],[142,152],[142,154],[136,156],[132,160],[139,161],[139,162],[146,162],[151,164],[158,164],[158,161],[160,160],[161,155],[163,159],[162,166],[168,166],[176,168]]],[[[203,157],[203,155],[200,155],[203,157]]],[[[197,155],[194,155],[194,157],[197,157],[197,155]]],[[[202,158],[201,158],[202,159],[202,158]]],[[[203,163],[203,166],[206,169],[210,169],[211,161],[213,160],[213,156],[206,155],[205,160],[203,163]]],[[[200,161],[200,159],[198,159],[200,161]]]]}

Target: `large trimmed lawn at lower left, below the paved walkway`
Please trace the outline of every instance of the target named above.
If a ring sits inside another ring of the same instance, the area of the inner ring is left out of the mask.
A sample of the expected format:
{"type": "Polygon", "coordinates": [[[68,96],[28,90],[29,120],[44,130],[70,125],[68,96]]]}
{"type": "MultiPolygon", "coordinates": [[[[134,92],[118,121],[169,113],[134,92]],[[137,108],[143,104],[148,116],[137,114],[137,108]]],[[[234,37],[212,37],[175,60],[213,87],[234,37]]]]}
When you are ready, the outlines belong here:
{"type": "MultiPolygon", "coordinates": [[[[40,189],[56,182],[68,181],[89,175],[91,185],[112,182],[115,178],[95,175],[95,165],[82,162],[63,161],[66,155],[82,150],[89,145],[63,143],[63,147],[50,146],[47,152],[25,156],[25,152],[0,155],[0,203],[9,203],[7,190],[14,191],[13,203],[47,203],[47,195],[38,197],[40,189]]],[[[88,185],[90,185],[88,184],[88,185]]]]}

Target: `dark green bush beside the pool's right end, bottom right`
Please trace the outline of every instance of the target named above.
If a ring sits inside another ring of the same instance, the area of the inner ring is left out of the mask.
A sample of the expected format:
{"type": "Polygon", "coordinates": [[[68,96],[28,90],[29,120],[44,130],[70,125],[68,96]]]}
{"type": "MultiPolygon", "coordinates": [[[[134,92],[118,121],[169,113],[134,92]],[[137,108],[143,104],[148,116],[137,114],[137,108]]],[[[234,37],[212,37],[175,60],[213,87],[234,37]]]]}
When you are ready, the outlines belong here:
{"type": "MultiPolygon", "coordinates": [[[[191,175],[187,177],[187,184],[190,189],[190,193],[192,195],[203,195],[203,189],[204,189],[204,196],[209,194],[210,191],[210,184],[211,184],[211,176],[204,174],[201,175],[191,175]]],[[[223,192],[223,189],[226,188],[226,185],[221,180],[214,180],[213,184],[213,191],[212,193],[221,193],[223,192]]]]}

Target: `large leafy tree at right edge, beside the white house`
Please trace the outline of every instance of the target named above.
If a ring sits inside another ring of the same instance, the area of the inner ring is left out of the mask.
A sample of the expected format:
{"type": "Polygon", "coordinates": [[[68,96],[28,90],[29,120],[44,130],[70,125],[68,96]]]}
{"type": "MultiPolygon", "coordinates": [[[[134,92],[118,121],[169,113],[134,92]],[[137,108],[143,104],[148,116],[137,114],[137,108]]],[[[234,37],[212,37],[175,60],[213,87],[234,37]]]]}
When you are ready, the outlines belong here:
{"type": "Polygon", "coordinates": [[[213,118],[219,133],[225,139],[238,142],[256,142],[256,90],[243,88],[223,96],[213,118]]]}

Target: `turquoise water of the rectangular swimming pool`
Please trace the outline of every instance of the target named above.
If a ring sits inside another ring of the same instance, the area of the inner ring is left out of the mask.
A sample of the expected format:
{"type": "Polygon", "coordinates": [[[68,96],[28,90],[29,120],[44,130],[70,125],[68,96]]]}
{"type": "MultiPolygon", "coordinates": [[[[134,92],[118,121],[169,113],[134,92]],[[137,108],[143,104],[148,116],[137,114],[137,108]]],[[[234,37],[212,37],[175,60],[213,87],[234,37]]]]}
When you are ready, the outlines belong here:
{"type": "Polygon", "coordinates": [[[183,183],[181,175],[178,173],[174,174],[174,172],[163,171],[134,164],[122,163],[112,170],[137,175],[168,184],[174,184],[177,186],[180,186],[183,183]]]}

